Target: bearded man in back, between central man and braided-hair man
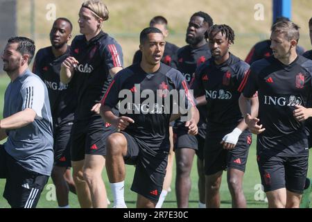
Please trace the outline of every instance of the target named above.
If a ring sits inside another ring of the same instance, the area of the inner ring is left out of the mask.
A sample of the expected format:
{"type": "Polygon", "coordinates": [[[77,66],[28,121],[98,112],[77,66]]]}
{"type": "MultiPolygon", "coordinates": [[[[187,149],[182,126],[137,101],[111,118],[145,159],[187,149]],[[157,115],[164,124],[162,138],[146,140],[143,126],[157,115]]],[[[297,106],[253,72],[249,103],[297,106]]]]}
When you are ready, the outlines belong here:
{"type": "MultiPolygon", "coordinates": [[[[196,68],[211,58],[207,44],[207,31],[213,25],[211,17],[205,12],[196,12],[189,19],[187,27],[186,46],[177,52],[177,70],[181,71],[187,83],[191,83],[196,68]]],[[[204,144],[206,137],[205,108],[198,106],[200,121],[198,135],[195,137],[187,133],[184,123],[179,119],[173,127],[175,143],[175,160],[177,173],[175,178],[175,194],[177,207],[189,207],[189,192],[191,191],[191,167],[195,153],[198,156],[198,196],[199,207],[205,206],[205,172],[204,172],[204,144]]]]}

